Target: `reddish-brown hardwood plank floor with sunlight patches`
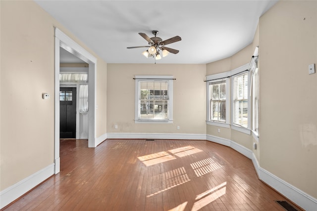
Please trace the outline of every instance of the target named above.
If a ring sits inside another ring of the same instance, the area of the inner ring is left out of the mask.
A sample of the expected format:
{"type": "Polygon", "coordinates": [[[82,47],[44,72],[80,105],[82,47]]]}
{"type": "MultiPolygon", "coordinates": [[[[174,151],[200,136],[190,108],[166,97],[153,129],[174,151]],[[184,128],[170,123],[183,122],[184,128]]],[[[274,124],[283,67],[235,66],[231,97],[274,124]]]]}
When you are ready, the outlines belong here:
{"type": "Polygon", "coordinates": [[[284,211],[274,201],[287,201],[258,179],[251,160],[209,141],[60,146],[60,173],[5,211],[284,211]]]}

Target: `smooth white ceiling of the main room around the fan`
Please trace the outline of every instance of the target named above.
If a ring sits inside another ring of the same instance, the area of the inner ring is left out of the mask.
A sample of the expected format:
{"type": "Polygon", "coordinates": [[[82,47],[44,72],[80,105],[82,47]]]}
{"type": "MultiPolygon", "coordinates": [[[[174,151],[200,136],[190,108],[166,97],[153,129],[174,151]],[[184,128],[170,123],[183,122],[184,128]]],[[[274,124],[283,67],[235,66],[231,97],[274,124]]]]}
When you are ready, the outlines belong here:
{"type": "MultiPolygon", "coordinates": [[[[167,64],[206,64],[233,55],[252,43],[259,17],[276,0],[36,0],[107,63],[154,63],[141,53],[158,30],[178,54],[167,64]]],[[[66,57],[65,57],[66,58],[66,57]]],[[[67,60],[64,60],[65,62],[67,60]]]]}

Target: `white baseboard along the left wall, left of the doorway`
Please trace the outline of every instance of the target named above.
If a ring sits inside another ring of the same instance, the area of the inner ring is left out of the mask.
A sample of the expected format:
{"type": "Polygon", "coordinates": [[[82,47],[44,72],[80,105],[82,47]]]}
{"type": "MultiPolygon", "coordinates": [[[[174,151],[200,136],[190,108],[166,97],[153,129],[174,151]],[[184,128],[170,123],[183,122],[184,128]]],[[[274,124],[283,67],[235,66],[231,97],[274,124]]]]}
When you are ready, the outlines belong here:
{"type": "Polygon", "coordinates": [[[54,164],[35,172],[0,192],[0,209],[4,208],[54,174],[54,164]]]}

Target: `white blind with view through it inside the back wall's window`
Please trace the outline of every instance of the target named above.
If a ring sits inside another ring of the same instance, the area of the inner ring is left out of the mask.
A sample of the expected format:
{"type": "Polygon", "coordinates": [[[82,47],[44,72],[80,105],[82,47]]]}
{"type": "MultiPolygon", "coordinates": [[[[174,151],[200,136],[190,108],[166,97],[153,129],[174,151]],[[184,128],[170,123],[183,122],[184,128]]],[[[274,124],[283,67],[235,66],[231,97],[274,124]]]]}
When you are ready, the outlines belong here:
{"type": "Polygon", "coordinates": [[[169,120],[169,81],[138,81],[138,120],[169,120]]]}

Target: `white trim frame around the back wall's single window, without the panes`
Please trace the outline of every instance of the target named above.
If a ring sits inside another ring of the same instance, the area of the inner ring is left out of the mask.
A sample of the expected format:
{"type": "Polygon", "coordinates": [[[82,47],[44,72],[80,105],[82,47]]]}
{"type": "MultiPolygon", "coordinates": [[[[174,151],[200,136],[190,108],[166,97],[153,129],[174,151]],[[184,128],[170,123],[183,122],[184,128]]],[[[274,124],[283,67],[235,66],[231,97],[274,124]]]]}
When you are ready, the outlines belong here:
{"type": "Polygon", "coordinates": [[[136,75],[135,76],[135,117],[134,123],[141,124],[173,124],[173,80],[174,76],[151,76],[151,75],[136,75]],[[168,81],[168,96],[169,96],[169,118],[168,120],[140,120],[139,118],[139,81],[168,81]]]}

